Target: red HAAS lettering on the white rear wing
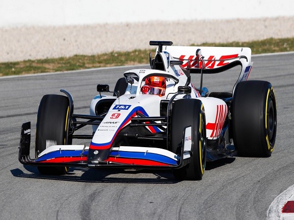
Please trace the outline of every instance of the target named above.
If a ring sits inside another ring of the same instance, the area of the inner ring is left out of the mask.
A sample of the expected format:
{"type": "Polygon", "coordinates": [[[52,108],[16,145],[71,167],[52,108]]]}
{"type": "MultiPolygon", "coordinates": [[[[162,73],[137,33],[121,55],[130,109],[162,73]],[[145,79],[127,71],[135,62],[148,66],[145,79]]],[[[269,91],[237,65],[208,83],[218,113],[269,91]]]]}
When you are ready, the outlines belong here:
{"type": "MultiPolygon", "coordinates": [[[[205,68],[208,69],[213,69],[216,67],[220,67],[220,66],[225,66],[227,64],[229,64],[231,61],[225,61],[226,59],[232,59],[232,58],[237,58],[239,56],[239,54],[231,54],[231,55],[223,55],[220,58],[217,58],[216,56],[209,56],[208,59],[206,60],[206,62],[204,63],[205,68]],[[216,61],[216,60],[223,60],[223,61],[216,61]]],[[[184,61],[185,59],[190,60],[191,62],[191,68],[199,68],[200,66],[202,66],[202,61],[200,60],[199,62],[199,66],[197,66],[197,57],[196,56],[185,56],[185,55],[181,55],[179,57],[179,60],[184,61]]],[[[188,62],[184,61],[183,63],[183,67],[187,67],[188,62]]]]}

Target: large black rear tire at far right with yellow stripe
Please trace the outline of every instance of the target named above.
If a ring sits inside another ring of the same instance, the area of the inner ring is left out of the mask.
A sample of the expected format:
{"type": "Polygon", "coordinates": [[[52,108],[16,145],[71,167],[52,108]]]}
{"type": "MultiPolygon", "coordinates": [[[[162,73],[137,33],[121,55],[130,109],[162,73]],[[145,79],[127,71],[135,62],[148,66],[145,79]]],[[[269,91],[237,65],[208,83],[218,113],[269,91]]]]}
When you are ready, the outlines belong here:
{"type": "Polygon", "coordinates": [[[240,82],[233,94],[233,140],[241,156],[270,156],[277,131],[273,88],[266,81],[240,82]]]}

